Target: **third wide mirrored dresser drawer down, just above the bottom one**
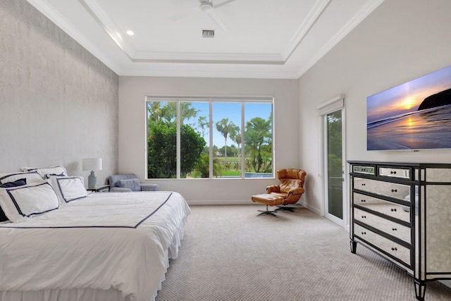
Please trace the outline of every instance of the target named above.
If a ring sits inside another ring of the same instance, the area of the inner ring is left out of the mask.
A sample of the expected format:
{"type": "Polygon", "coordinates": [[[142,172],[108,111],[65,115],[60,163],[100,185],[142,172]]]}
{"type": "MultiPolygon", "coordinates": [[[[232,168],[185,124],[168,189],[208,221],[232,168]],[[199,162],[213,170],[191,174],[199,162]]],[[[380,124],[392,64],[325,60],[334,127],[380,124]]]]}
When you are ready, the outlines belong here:
{"type": "Polygon", "coordinates": [[[395,238],[399,238],[404,242],[411,242],[410,228],[402,226],[400,223],[389,221],[381,216],[371,214],[358,208],[354,208],[354,219],[357,221],[362,221],[362,223],[366,223],[373,228],[395,236],[395,238]]]}

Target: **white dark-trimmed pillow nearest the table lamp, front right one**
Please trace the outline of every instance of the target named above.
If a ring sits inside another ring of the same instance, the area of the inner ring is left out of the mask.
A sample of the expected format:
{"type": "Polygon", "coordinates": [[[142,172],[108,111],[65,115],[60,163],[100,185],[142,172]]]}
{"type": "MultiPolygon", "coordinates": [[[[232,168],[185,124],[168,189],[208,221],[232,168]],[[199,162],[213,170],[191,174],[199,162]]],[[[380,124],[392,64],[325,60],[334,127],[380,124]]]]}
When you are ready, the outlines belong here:
{"type": "Polygon", "coordinates": [[[49,176],[49,181],[56,191],[56,195],[58,195],[61,204],[87,197],[87,191],[82,177],[49,176]]]}

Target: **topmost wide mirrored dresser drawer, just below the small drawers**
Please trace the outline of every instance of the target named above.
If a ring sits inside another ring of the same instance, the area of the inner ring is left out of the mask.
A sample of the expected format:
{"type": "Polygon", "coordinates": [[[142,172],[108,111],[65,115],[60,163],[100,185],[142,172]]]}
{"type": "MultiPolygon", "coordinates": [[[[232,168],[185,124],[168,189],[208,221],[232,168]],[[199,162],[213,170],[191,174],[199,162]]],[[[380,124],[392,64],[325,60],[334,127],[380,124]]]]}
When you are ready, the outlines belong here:
{"type": "Polygon", "coordinates": [[[394,197],[395,199],[409,200],[410,186],[404,184],[383,182],[365,178],[354,178],[354,189],[394,197]]]}

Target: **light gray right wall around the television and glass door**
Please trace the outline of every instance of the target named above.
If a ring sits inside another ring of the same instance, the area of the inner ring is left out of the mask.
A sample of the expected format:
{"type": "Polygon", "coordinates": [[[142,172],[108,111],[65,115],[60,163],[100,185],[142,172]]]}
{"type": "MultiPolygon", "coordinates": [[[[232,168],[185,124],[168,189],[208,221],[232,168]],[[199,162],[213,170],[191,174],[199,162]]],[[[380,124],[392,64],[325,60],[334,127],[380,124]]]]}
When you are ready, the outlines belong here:
{"type": "Polygon", "coordinates": [[[316,106],[335,95],[345,94],[347,160],[451,162],[450,149],[366,151],[366,97],[451,65],[450,11],[449,0],[384,1],[299,79],[299,153],[314,175],[304,198],[311,209],[323,208],[316,106]]]}

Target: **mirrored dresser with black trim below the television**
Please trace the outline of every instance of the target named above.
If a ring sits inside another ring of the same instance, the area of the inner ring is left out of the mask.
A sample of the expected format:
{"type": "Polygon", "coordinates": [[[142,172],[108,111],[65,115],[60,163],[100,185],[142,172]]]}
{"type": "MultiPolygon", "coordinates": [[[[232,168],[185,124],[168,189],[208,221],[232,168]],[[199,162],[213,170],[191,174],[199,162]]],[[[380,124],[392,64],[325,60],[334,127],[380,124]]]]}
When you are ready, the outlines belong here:
{"type": "Polygon", "coordinates": [[[380,254],[414,278],[451,279],[451,164],[350,164],[350,242],[380,254]]]}

